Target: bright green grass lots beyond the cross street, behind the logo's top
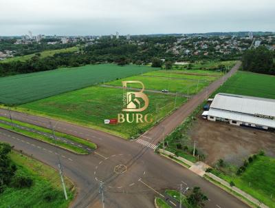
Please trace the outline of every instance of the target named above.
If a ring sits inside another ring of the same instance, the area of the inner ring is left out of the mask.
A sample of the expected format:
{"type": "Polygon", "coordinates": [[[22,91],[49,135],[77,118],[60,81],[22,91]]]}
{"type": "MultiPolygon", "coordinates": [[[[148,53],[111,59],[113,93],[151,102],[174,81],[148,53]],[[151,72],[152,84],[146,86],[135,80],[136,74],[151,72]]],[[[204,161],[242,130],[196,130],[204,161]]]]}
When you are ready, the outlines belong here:
{"type": "MultiPolygon", "coordinates": [[[[169,92],[179,92],[182,94],[196,94],[203,87],[209,85],[209,81],[197,81],[192,79],[169,79],[169,77],[151,77],[151,76],[131,76],[126,79],[111,81],[107,85],[121,86],[121,81],[137,80],[141,81],[146,89],[150,90],[169,90],[169,92]]],[[[140,88],[139,84],[132,83],[128,87],[140,88]]]]}

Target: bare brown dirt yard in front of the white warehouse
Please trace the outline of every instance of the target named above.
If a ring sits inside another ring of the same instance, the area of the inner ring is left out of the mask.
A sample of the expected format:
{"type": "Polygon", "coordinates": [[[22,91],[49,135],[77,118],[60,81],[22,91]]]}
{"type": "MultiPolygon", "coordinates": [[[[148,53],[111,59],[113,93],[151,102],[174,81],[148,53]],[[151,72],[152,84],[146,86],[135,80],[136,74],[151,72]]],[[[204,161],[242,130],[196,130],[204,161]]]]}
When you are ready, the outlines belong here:
{"type": "Polygon", "coordinates": [[[197,147],[206,155],[209,165],[219,158],[241,165],[245,158],[260,149],[269,156],[275,156],[275,133],[272,132],[198,118],[189,134],[192,140],[197,141],[197,147]]]}

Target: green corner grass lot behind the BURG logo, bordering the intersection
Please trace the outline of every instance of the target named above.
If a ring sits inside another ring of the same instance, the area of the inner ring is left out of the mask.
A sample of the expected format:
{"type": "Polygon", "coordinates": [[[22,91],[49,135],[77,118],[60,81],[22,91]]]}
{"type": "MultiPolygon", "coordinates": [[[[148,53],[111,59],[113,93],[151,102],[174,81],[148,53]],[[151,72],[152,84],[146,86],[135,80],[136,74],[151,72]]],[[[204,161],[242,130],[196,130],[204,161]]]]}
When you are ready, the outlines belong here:
{"type": "MultiPolygon", "coordinates": [[[[146,93],[149,98],[149,105],[142,114],[153,114],[153,123],[105,125],[104,119],[117,118],[118,114],[122,113],[122,94],[122,89],[98,86],[87,87],[19,105],[17,110],[72,121],[124,138],[130,138],[145,132],[155,124],[155,119],[159,120],[166,116],[168,112],[174,110],[175,96],[146,93]]],[[[186,98],[177,96],[176,106],[178,107],[185,101],[186,98]]]]}

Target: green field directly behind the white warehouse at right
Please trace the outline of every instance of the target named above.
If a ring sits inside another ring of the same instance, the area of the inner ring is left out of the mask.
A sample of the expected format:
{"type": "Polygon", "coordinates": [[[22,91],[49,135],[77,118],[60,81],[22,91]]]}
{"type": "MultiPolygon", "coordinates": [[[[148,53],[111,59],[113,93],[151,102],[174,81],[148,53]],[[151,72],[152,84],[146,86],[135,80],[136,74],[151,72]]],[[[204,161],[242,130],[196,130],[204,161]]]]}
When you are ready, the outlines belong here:
{"type": "Polygon", "coordinates": [[[275,99],[275,76],[252,72],[237,72],[214,92],[259,96],[275,99]]]}

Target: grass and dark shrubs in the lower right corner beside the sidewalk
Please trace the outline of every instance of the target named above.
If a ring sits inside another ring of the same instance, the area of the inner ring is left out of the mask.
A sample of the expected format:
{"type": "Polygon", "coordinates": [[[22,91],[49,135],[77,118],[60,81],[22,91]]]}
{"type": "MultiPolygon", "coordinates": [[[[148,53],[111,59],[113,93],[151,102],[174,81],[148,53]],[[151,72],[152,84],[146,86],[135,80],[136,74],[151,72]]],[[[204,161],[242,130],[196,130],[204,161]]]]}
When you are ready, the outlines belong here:
{"type": "Polygon", "coordinates": [[[265,156],[263,151],[243,160],[241,167],[220,159],[214,169],[207,171],[226,180],[232,187],[242,189],[268,207],[275,207],[275,158],[265,156]]]}

